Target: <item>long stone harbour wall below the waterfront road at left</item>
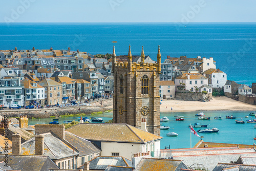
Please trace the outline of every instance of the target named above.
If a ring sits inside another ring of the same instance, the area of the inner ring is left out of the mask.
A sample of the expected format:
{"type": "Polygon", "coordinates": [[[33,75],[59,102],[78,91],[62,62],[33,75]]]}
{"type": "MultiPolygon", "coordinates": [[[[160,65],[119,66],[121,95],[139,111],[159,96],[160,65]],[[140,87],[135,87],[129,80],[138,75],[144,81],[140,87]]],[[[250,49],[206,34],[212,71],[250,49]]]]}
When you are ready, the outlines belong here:
{"type": "Polygon", "coordinates": [[[104,99],[102,101],[91,102],[90,106],[75,106],[68,108],[50,108],[50,109],[36,109],[36,110],[8,110],[0,111],[0,115],[7,115],[10,117],[19,117],[20,115],[27,115],[28,118],[50,118],[50,116],[59,117],[66,114],[90,114],[93,112],[104,112],[112,110],[113,99],[104,99]]]}

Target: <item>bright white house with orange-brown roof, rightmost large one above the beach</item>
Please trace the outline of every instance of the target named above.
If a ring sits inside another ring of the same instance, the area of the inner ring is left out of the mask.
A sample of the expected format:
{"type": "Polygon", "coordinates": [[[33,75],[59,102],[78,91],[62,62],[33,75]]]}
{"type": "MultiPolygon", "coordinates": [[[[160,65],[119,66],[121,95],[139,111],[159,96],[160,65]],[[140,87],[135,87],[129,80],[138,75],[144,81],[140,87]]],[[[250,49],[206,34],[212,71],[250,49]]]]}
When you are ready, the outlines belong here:
{"type": "Polygon", "coordinates": [[[208,78],[208,85],[212,88],[221,88],[227,82],[227,74],[220,69],[208,69],[203,75],[208,78]]]}

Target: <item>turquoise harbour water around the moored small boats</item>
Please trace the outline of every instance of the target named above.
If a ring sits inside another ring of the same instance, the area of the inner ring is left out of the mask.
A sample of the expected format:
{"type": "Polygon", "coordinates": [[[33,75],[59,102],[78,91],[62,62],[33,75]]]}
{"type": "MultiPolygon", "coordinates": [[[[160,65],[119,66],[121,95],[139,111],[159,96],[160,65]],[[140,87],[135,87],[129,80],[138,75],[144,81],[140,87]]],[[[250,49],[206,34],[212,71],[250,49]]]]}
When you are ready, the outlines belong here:
{"type": "MultiPolygon", "coordinates": [[[[196,112],[173,112],[173,113],[161,113],[160,116],[166,116],[169,118],[168,122],[163,122],[162,125],[170,126],[169,130],[161,130],[161,149],[165,146],[171,148],[189,148],[190,147],[190,129],[188,124],[199,122],[201,124],[208,124],[208,129],[212,127],[217,127],[220,131],[218,133],[203,134],[198,133],[199,136],[203,136],[205,142],[220,142],[220,143],[234,143],[234,144],[253,144],[256,143],[256,140],[253,140],[255,137],[256,129],[253,128],[253,123],[239,124],[236,123],[235,119],[226,119],[225,116],[233,115],[237,116],[237,119],[243,120],[246,122],[246,119],[251,119],[249,116],[250,112],[231,112],[231,111],[203,111],[205,116],[211,117],[210,120],[198,120],[195,117],[196,112]],[[175,121],[174,116],[184,116],[184,121],[175,121]],[[215,116],[223,116],[223,119],[214,119],[215,116]],[[249,116],[249,118],[245,118],[249,116]],[[175,132],[179,134],[177,137],[167,137],[168,132],[175,132]]],[[[104,113],[97,115],[96,117],[101,117],[104,122],[112,119],[113,113],[104,113]]],[[[88,116],[90,117],[90,116],[88,116]]],[[[95,116],[94,116],[95,117],[95,116]]],[[[63,123],[66,120],[75,120],[73,117],[59,118],[59,123],[63,123]]],[[[76,119],[77,120],[77,119],[76,119]]],[[[29,124],[34,125],[36,123],[46,123],[48,124],[52,119],[29,119],[29,124]]],[[[199,130],[200,128],[195,128],[199,130]]],[[[199,137],[192,134],[192,147],[200,140],[199,137]]]]}

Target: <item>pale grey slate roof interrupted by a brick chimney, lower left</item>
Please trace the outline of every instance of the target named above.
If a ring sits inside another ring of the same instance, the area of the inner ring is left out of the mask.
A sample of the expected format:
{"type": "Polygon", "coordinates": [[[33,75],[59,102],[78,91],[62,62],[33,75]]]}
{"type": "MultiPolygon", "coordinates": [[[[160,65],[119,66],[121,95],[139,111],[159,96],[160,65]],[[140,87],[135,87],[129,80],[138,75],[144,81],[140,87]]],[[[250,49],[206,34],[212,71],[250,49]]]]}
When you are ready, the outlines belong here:
{"type": "MultiPolygon", "coordinates": [[[[62,159],[79,154],[75,147],[73,153],[73,146],[66,142],[66,140],[58,138],[54,133],[40,135],[44,135],[44,156],[48,156],[50,159],[62,159]]],[[[20,155],[35,155],[35,138],[22,143],[20,155]]]]}

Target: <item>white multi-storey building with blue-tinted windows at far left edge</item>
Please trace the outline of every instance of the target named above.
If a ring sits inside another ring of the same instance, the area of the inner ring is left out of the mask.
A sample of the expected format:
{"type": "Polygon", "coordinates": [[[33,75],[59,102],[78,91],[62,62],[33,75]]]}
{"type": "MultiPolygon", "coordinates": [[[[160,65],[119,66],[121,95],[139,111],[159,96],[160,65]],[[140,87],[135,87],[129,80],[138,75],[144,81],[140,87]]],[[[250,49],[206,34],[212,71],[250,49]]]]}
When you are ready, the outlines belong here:
{"type": "Polygon", "coordinates": [[[20,78],[5,78],[0,80],[0,106],[9,108],[11,104],[24,105],[24,86],[20,78]]]}

